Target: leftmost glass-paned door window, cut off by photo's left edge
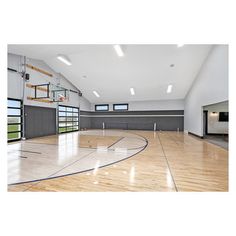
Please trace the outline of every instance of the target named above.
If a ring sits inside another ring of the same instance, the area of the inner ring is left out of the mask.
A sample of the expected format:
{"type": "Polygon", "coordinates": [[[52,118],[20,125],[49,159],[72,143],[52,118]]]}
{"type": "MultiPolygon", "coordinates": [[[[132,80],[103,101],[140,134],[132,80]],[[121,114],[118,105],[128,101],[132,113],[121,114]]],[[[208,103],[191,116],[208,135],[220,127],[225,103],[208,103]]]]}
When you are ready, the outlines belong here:
{"type": "Polygon", "coordinates": [[[22,101],[7,99],[7,140],[20,140],[22,136],[22,101]]]}

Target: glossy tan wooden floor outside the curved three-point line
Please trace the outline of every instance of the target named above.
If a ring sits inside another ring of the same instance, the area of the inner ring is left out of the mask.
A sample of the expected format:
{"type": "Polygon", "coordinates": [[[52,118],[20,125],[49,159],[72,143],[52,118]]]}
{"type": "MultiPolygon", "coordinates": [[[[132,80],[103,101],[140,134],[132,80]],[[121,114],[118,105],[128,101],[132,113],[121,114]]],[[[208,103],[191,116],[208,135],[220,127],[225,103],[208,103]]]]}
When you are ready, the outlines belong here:
{"type": "Polygon", "coordinates": [[[125,132],[145,137],[148,145],[96,172],[8,185],[8,191],[228,191],[227,150],[183,132],[125,132]]]}

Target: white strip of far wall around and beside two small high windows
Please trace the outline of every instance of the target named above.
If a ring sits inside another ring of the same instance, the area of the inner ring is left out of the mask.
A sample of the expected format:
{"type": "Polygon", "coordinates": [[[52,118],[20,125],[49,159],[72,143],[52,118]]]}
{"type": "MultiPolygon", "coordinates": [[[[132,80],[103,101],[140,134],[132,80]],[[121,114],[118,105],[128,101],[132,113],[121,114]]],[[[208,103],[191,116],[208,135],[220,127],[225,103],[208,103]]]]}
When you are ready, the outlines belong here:
{"type": "MultiPolygon", "coordinates": [[[[119,102],[117,102],[119,103],[119,102]]],[[[159,100],[159,101],[140,101],[128,102],[129,111],[152,111],[152,110],[184,110],[184,100],[159,100]]],[[[96,103],[97,104],[97,103],[96,103]]],[[[114,103],[109,104],[109,110],[113,110],[114,103]]],[[[95,110],[95,104],[91,104],[91,110],[95,110]]]]}

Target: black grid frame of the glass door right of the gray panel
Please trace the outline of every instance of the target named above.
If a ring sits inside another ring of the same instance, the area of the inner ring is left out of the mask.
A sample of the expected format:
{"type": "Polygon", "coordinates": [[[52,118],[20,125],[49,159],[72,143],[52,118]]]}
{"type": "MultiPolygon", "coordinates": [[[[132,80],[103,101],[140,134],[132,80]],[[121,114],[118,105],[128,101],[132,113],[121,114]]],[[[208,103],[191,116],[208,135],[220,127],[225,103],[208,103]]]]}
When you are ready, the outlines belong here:
{"type": "Polygon", "coordinates": [[[70,133],[70,132],[77,132],[80,130],[80,109],[79,107],[73,107],[73,106],[64,106],[64,105],[59,105],[58,106],[58,111],[57,111],[57,118],[58,118],[58,124],[57,124],[57,132],[58,134],[64,134],[64,133],[70,133]],[[65,107],[65,110],[60,110],[60,107],[65,107]],[[67,111],[67,108],[72,108],[72,111],[67,111]],[[76,108],[78,111],[73,111],[73,109],[76,108]],[[65,115],[64,116],[60,116],[59,113],[60,112],[64,112],[65,115]],[[72,116],[67,116],[67,113],[71,113],[72,116]],[[76,116],[74,116],[73,114],[77,114],[76,116]],[[65,118],[65,121],[60,121],[60,117],[65,118]],[[67,118],[72,118],[72,121],[67,121],[67,118]],[[77,120],[74,120],[74,118],[76,118],[77,120]],[[65,123],[65,126],[60,126],[60,123],[65,123]],[[67,125],[67,123],[71,123],[72,125],[67,125]],[[76,125],[74,125],[74,123],[77,123],[76,125]],[[74,130],[74,127],[77,127],[77,129],[74,130]],[[65,128],[66,131],[60,131],[60,128],[65,128]],[[67,129],[71,129],[71,130],[67,130],[67,129]]]}

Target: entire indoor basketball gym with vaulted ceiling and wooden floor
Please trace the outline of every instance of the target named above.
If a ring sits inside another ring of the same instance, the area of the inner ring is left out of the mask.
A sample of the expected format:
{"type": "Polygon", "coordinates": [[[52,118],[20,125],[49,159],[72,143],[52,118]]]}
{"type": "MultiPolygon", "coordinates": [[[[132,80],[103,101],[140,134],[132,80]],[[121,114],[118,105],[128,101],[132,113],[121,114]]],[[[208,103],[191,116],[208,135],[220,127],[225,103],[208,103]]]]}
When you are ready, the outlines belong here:
{"type": "Polygon", "coordinates": [[[228,191],[227,57],[8,45],[8,191],[228,191]]]}

